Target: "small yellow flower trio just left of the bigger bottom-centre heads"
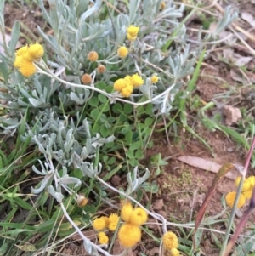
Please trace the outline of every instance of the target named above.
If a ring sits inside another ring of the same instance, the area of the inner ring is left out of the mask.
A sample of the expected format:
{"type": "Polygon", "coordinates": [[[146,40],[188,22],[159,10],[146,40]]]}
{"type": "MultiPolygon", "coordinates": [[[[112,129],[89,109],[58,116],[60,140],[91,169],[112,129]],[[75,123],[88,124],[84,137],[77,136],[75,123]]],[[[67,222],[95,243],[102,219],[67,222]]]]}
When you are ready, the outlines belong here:
{"type": "MultiPolygon", "coordinates": [[[[109,217],[102,216],[98,219],[95,219],[93,222],[93,226],[95,230],[105,230],[109,229],[111,231],[115,231],[118,225],[120,217],[116,213],[112,213],[109,217]]],[[[99,243],[105,244],[109,242],[109,237],[106,236],[105,232],[99,232],[99,243]]]]}

